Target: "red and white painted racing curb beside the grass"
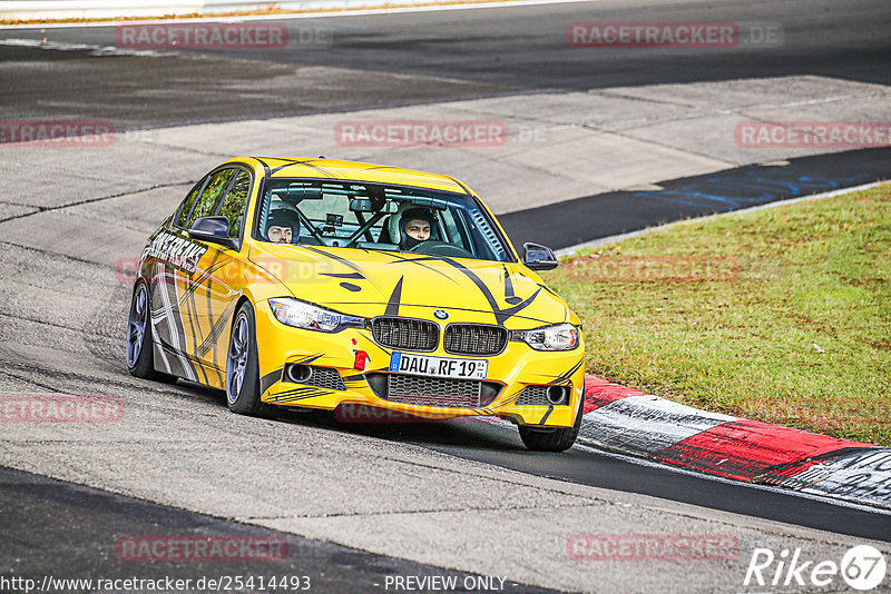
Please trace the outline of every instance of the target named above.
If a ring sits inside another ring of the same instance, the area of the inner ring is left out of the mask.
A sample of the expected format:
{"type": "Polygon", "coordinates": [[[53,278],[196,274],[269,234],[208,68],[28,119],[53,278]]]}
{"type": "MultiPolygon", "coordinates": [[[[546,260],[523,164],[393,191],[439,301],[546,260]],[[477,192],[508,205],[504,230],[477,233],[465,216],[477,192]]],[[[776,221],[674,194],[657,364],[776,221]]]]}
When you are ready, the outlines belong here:
{"type": "Polygon", "coordinates": [[[699,410],[585,376],[579,440],[724,478],[891,509],[891,448],[699,410]]]}

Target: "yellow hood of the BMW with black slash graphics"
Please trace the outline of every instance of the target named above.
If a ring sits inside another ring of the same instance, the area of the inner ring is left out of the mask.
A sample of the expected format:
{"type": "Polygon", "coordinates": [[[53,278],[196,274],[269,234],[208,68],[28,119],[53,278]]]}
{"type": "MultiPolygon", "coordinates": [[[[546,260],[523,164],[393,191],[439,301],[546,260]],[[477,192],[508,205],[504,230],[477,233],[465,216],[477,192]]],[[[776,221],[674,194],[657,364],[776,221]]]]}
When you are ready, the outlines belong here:
{"type": "Polygon", "coordinates": [[[432,319],[443,309],[452,320],[510,329],[578,324],[566,303],[520,264],[274,244],[252,246],[248,257],[294,297],[343,314],[432,319]]]}

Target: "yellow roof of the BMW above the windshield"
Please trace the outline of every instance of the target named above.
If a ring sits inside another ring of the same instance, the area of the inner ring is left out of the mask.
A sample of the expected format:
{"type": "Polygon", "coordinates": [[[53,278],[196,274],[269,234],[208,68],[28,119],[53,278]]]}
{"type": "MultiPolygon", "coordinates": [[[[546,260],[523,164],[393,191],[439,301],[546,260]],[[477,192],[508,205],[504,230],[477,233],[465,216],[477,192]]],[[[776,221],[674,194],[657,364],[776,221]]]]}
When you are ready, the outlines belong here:
{"type": "Polygon", "coordinates": [[[232,159],[232,161],[257,161],[261,168],[266,169],[266,176],[272,178],[343,179],[468,194],[468,190],[461,184],[449,176],[402,169],[389,165],[298,157],[241,157],[232,159]]]}

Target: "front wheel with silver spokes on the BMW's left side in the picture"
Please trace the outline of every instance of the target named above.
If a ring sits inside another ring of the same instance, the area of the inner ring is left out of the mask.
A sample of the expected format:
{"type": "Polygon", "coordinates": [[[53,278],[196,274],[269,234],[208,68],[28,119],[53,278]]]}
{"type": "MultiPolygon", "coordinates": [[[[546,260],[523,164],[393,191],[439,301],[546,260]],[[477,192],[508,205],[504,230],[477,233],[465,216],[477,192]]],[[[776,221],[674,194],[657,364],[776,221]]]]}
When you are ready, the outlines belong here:
{"type": "Polygon", "coordinates": [[[226,404],[239,415],[271,418],[274,405],[260,400],[260,358],[257,357],[254,308],[245,301],[235,313],[226,353],[226,404]]]}

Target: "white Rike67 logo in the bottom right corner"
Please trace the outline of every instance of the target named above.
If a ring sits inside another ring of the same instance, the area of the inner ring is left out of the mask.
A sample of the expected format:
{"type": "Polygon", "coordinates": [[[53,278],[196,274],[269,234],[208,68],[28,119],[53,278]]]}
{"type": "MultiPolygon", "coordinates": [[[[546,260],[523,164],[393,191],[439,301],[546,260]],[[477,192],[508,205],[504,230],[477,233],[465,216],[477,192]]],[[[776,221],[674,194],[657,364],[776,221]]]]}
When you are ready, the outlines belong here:
{"type": "Polygon", "coordinates": [[[840,581],[844,581],[849,587],[866,592],[882,584],[887,568],[884,555],[870,545],[848,550],[841,563],[805,560],[801,548],[784,548],[780,554],[770,548],[756,548],[743,585],[815,586],[834,592],[842,586],[840,581]]]}

